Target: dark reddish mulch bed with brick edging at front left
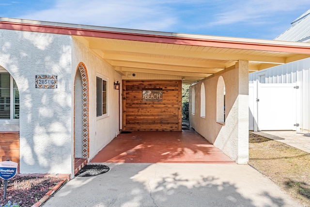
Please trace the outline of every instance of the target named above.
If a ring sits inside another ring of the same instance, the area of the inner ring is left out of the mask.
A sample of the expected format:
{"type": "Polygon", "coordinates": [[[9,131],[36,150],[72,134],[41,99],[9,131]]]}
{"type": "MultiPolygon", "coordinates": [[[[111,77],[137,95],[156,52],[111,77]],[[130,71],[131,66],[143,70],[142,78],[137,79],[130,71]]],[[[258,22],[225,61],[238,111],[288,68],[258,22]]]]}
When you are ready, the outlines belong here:
{"type": "Polygon", "coordinates": [[[8,180],[5,200],[3,200],[4,180],[1,180],[0,206],[11,201],[20,207],[31,207],[62,180],[57,177],[15,176],[8,180]]]}

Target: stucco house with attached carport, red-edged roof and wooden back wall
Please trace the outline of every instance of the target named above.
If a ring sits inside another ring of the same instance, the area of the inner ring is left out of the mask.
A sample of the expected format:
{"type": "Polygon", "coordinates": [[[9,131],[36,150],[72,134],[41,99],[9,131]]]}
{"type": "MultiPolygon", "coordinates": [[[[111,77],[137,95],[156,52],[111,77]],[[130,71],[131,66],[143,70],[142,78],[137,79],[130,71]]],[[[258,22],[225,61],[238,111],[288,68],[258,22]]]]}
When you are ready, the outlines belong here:
{"type": "Polygon", "coordinates": [[[24,19],[0,18],[0,32],[0,70],[20,89],[20,119],[9,124],[21,173],[73,175],[75,159],[90,161],[121,130],[180,133],[182,84],[191,84],[191,127],[247,163],[248,73],[310,57],[306,43],[24,19]],[[58,88],[35,88],[37,75],[55,75],[58,88]]]}

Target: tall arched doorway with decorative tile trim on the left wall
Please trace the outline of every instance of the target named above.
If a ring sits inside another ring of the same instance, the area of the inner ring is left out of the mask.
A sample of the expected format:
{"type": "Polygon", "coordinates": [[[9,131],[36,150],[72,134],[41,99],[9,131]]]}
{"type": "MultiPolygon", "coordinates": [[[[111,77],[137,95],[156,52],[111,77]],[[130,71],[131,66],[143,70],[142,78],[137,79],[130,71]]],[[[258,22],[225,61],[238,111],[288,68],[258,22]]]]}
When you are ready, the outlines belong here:
{"type": "Polygon", "coordinates": [[[87,70],[85,65],[80,63],[74,85],[74,154],[76,163],[78,163],[77,159],[89,158],[88,106],[87,70]]]}

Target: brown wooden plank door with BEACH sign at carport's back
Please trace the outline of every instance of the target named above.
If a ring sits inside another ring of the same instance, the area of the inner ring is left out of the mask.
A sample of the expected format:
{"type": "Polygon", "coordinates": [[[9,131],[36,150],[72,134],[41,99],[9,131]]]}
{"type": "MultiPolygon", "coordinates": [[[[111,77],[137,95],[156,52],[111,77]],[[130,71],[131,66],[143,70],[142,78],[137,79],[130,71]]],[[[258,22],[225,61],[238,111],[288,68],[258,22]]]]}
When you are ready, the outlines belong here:
{"type": "Polygon", "coordinates": [[[181,80],[123,80],[122,99],[123,130],[182,130],[181,80]]]}

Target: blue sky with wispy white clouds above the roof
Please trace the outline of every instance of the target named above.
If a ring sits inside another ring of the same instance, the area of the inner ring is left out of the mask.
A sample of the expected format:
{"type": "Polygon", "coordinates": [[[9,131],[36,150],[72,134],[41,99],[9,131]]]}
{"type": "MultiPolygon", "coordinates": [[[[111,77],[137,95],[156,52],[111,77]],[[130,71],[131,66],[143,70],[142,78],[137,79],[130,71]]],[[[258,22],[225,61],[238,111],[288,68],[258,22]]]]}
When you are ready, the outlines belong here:
{"type": "Polygon", "coordinates": [[[0,17],[274,39],[310,0],[0,0],[0,17]]]}

